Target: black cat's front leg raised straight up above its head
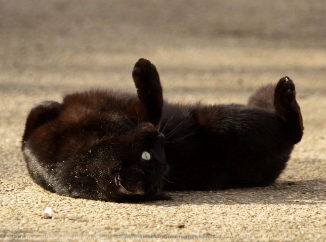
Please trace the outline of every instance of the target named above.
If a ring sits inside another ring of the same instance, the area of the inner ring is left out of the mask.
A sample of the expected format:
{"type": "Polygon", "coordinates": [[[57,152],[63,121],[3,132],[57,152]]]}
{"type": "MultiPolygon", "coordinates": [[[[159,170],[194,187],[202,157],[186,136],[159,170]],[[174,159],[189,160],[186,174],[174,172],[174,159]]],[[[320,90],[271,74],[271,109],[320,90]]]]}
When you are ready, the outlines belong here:
{"type": "Polygon", "coordinates": [[[157,125],[162,117],[163,94],[156,67],[149,60],[139,59],[132,71],[132,78],[141,101],[140,105],[145,107],[146,112],[139,116],[146,117],[146,121],[157,125]]]}

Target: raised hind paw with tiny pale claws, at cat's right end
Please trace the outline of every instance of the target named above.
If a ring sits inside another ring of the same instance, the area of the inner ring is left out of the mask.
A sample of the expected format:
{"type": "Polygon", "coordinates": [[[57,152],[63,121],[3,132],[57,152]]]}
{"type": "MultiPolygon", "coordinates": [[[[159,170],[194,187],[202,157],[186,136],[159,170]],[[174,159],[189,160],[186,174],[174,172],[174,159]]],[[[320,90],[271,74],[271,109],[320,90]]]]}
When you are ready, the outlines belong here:
{"type": "Polygon", "coordinates": [[[295,103],[295,86],[289,77],[281,78],[275,87],[275,102],[289,109],[295,103]]]}

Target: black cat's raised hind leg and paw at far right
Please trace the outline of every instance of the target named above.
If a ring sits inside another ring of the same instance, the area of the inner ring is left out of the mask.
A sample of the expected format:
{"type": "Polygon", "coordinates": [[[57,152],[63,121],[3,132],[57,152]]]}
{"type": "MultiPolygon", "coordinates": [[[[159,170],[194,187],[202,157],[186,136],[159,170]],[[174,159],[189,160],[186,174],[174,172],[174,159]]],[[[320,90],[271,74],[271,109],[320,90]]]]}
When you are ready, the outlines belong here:
{"type": "Polygon", "coordinates": [[[295,95],[294,82],[288,77],[281,78],[275,87],[274,107],[276,114],[285,121],[294,144],[303,135],[303,121],[295,95]]]}

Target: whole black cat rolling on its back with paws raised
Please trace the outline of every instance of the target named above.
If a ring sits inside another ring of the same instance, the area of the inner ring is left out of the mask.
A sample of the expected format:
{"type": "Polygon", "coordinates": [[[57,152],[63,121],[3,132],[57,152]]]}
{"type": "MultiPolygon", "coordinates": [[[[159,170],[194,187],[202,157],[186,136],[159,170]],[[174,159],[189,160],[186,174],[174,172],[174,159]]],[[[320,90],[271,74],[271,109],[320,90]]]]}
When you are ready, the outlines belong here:
{"type": "Polygon", "coordinates": [[[246,106],[163,105],[159,74],[145,59],[132,77],[138,97],[90,90],[31,110],[22,150],[39,185],[116,202],[167,199],[162,190],[267,186],[302,137],[288,77],[246,106]]]}

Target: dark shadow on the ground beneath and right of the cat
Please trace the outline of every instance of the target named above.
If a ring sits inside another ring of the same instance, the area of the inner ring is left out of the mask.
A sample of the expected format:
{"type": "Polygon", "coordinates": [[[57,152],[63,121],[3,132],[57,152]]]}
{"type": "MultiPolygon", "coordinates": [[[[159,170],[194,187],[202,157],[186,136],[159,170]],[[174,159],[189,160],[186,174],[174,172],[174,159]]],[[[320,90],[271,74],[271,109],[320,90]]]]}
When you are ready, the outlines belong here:
{"type": "Polygon", "coordinates": [[[279,181],[260,188],[228,189],[219,191],[166,192],[170,201],[142,202],[155,206],[184,204],[317,204],[326,202],[326,179],[279,181]]]}

